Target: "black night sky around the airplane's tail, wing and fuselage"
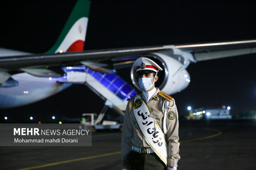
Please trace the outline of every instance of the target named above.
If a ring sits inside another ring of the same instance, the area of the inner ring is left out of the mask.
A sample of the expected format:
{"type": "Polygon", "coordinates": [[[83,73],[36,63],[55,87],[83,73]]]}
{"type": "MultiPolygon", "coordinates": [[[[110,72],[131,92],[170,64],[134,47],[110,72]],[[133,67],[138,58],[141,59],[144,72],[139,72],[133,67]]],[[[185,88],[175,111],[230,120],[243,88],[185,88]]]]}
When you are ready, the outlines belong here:
{"type": "MultiPolygon", "coordinates": [[[[75,3],[7,1],[0,11],[0,47],[32,53],[47,51],[75,3]]],[[[251,1],[92,1],[84,49],[255,40],[255,7],[251,1]]],[[[190,85],[172,95],[179,113],[188,114],[188,105],[226,105],[231,107],[231,114],[256,109],[255,63],[256,54],[190,64],[190,85]]],[[[118,71],[131,84],[130,69],[118,71]]],[[[85,112],[98,113],[103,105],[86,86],[73,85],[40,102],[0,109],[0,113],[20,121],[36,115],[36,122],[51,115],[74,118],[85,112]]]]}

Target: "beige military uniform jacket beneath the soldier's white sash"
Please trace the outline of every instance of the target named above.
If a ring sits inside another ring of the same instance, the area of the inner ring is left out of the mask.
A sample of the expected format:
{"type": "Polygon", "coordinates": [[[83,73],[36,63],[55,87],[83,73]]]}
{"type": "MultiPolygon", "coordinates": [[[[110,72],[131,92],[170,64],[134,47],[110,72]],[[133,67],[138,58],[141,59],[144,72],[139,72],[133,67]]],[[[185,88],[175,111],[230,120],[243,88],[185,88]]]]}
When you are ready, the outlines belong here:
{"type": "MultiPolygon", "coordinates": [[[[158,93],[160,92],[159,88],[156,88],[156,92],[152,96],[152,98],[149,99],[147,102],[149,108],[151,109],[150,116],[154,117],[156,119],[156,122],[161,127],[161,130],[163,130],[163,120],[164,120],[164,112],[163,112],[163,104],[166,100],[165,98],[161,97],[158,93]]],[[[143,98],[144,95],[142,93],[137,94],[141,95],[143,98]]],[[[135,95],[135,96],[137,96],[135,95]]],[[[121,143],[121,155],[122,155],[122,168],[128,169],[130,166],[129,162],[129,155],[131,152],[131,146],[138,147],[138,148],[150,148],[147,142],[144,140],[142,135],[140,134],[140,131],[137,127],[137,124],[133,118],[133,96],[129,99],[126,111],[124,115],[124,121],[123,121],[123,132],[122,132],[122,143],[121,143]]],[[[166,100],[167,102],[167,100],[166,100]]],[[[166,116],[166,126],[167,126],[167,133],[166,133],[166,140],[168,144],[168,167],[171,166],[178,166],[178,160],[180,159],[179,155],[179,146],[180,143],[179,137],[178,137],[178,128],[179,128],[179,122],[178,122],[178,112],[177,107],[175,105],[174,99],[172,99],[169,102],[169,107],[167,114],[175,113],[175,117],[173,117],[173,114],[171,115],[171,119],[168,118],[170,116],[166,116]]]]}

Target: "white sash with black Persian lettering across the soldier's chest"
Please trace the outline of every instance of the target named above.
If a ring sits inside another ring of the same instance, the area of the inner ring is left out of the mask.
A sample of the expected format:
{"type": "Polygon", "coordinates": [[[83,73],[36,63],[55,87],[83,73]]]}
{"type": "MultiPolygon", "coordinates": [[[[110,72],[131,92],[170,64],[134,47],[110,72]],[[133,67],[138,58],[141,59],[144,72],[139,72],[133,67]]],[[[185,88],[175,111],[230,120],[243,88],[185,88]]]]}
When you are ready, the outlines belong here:
{"type": "Polygon", "coordinates": [[[159,158],[166,164],[168,159],[168,145],[165,135],[150,114],[150,108],[147,102],[140,95],[133,99],[133,117],[140,130],[142,137],[147,144],[154,150],[159,158]],[[155,123],[156,126],[155,126],[155,123]]]}

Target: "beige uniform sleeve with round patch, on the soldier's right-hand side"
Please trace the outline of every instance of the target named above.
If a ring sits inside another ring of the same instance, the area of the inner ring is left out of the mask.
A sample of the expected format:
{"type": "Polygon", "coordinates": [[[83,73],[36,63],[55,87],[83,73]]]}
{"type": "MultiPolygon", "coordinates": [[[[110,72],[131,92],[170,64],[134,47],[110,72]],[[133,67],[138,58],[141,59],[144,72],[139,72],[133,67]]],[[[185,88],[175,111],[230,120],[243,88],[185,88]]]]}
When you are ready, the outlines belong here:
{"type": "Polygon", "coordinates": [[[178,121],[178,111],[175,105],[175,101],[170,102],[166,116],[166,126],[167,126],[167,140],[168,140],[168,167],[178,166],[179,155],[179,121],[178,121]],[[168,113],[171,112],[171,114],[168,113]],[[174,117],[173,117],[174,112],[174,117]],[[171,115],[171,116],[170,116],[171,115]]]}

